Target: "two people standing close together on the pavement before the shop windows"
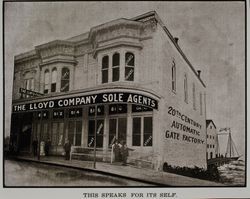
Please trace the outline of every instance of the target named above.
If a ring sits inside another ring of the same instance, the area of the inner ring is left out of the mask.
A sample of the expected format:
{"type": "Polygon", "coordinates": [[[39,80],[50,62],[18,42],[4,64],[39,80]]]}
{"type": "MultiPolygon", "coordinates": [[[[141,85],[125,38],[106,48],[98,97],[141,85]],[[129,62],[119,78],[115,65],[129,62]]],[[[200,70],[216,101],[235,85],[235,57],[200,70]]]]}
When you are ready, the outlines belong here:
{"type": "Polygon", "coordinates": [[[125,141],[120,143],[118,140],[115,140],[112,145],[111,163],[122,162],[122,165],[127,165],[127,158],[129,155],[128,150],[129,149],[125,141]]]}

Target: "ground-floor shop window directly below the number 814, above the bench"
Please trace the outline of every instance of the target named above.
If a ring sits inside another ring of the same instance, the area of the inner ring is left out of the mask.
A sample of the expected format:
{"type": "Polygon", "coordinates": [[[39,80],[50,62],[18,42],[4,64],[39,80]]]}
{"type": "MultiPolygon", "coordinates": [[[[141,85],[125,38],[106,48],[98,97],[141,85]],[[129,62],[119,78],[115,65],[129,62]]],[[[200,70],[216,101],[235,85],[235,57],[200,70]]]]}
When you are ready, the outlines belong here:
{"type": "Polygon", "coordinates": [[[73,146],[81,146],[82,121],[69,121],[68,139],[73,146]]]}

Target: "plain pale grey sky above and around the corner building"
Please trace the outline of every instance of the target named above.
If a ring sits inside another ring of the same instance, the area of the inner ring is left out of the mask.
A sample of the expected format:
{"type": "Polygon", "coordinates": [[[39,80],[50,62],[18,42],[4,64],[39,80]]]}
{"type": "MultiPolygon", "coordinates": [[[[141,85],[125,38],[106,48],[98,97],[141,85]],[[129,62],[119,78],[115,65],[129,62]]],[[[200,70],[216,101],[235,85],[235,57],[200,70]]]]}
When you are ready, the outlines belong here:
{"type": "Polygon", "coordinates": [[[155,10],[206,84],[207,119],[231,127],[245,149],[244,2],[6,2],[5,135],[10,131],[14,55],[117,18],[155,10]]]}

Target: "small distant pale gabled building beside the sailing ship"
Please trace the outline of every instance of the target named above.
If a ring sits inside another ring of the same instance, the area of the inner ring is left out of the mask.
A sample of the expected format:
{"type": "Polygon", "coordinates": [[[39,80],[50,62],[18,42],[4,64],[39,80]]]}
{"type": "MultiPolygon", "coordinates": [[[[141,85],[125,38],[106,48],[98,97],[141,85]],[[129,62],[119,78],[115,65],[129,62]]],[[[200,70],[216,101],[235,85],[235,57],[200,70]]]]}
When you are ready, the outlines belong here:
{"type": "Polygon", "coordinates": [[[207,159],[218,157],[218,135],[213,120],[206,120],[207,126],[207,159]]]}

